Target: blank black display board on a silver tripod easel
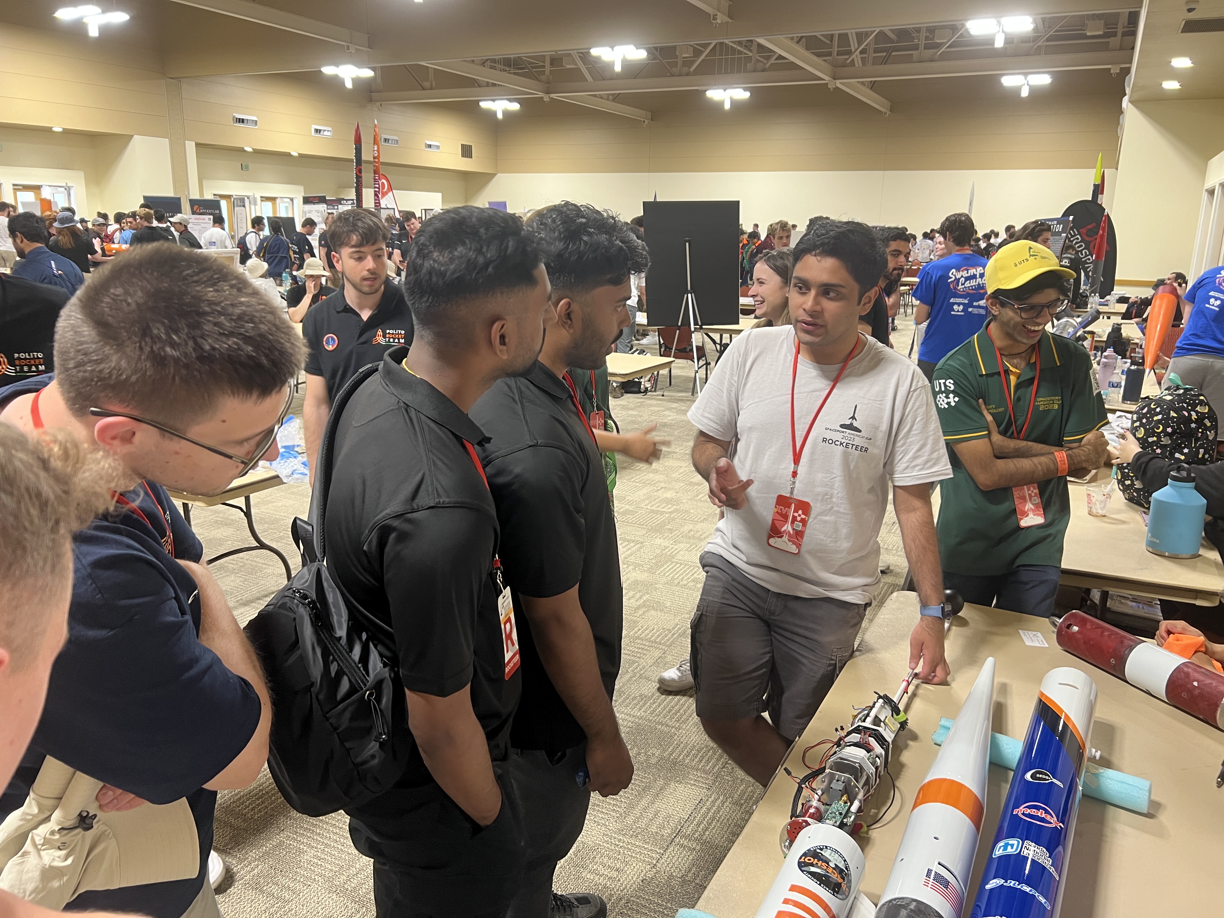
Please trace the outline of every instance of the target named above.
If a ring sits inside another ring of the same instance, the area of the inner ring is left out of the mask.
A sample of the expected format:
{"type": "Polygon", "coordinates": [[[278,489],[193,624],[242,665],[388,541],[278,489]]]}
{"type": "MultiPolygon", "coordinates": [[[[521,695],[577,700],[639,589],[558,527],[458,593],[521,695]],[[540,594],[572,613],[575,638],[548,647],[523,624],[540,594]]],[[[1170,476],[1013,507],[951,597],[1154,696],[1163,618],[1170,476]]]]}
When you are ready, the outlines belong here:
{"type": "Polygon", "coordinates": [[[688,282],[684,240],[690,240],[693,294],[706,326],[739,323],[739,202],[644,201],[650,271],[646,308],[652,326],[681,321],[688,282]]]}

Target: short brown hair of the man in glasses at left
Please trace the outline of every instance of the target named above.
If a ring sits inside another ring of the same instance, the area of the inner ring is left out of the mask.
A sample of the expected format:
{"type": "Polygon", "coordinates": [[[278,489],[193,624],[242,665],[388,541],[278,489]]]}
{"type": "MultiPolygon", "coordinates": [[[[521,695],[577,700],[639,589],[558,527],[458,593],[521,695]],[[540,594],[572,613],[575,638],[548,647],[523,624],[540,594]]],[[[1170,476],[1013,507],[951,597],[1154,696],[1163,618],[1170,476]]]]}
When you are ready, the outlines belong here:
{"type": "Polygon", "coordinates": [[[55,327],[56,381],[78,417],[124,408],[182,428],[223,398],[283,392],[304,357],[284,312],[245,274],[182,246],[125,252],[55,327]]]}

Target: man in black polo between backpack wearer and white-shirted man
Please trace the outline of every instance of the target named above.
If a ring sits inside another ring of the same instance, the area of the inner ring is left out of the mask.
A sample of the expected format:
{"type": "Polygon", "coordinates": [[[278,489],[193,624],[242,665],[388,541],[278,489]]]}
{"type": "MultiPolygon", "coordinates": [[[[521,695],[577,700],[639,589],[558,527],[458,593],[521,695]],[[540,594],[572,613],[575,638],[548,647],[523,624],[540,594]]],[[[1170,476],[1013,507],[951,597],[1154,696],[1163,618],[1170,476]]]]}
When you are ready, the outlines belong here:
{"type": "MultiPolygon", "coordinates": [[[[422,230],[428,231],[430,228],[422,230]]],[[[471,416],[502,526],[502,558],[523,649],[512,774],[528,859],[512,918],[601,918],[603,900],[558,896],[553,871],[583,831],[590,791],[619,793],[633,761],[612,710],[623,603],[603,463],[567,368],[603,365],[629,324],[629,275],[646,269],[627,223],[561,203],[529,229],[548,253],[557,324],[521,378],[496,383],[471,416]],[[586,770],[585,786],[577,780],[586,770]]]]}

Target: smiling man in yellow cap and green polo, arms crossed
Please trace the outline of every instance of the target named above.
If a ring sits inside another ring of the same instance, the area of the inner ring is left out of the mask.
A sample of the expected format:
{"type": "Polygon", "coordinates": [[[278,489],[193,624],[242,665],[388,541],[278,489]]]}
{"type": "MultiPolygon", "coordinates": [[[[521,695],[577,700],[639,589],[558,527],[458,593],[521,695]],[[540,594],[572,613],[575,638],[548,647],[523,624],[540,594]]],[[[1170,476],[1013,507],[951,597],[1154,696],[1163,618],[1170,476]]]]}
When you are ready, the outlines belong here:
{"type": "Polygon", "coordinates": [[[952,479],[940,488],[944,585],[967,602],[1054,612],[1070,519],[1066,475],[1105,463],[1092,359],[1047,324],[1073,273],[1037,242],[985,269],[985,328],[940,361],[931,389],[952,479]]]}

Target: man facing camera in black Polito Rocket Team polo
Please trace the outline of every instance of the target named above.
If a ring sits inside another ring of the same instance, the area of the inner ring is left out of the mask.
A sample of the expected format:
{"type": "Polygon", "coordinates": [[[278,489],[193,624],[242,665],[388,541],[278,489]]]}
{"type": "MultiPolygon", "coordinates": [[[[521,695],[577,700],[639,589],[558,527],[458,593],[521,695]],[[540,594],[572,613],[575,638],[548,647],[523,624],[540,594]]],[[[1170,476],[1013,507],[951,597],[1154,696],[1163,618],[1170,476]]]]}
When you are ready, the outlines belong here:
{"type": "Polygon", "coordinates": [[[306,458],[315,482],[315,457],[327,425],[332,393],[392,348],[412,344],[412,313],[404,291],[387,283],[387,226],[373,211],[341,211],[327,230],[328,247],[344,285],[302,319],[306,338],[306,458]]]}

